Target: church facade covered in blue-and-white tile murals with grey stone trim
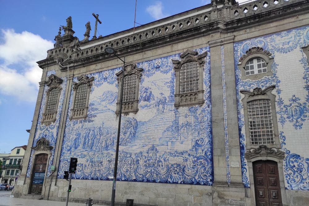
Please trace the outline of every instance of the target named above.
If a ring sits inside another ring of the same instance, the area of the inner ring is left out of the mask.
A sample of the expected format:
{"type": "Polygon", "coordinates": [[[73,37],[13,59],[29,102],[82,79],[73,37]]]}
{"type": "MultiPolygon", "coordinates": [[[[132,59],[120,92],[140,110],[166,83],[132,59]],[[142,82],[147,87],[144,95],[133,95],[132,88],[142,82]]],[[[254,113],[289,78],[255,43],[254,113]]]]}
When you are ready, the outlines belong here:
{"type": "MultiPolygon", "coordinates": [[[[71,18],[43,69],[15,197],[301,205],[309,201],[309,2],[211,1],[81,42],[71,18]],[[125,59],[122,67],[115,49],[125,59]]],[[[74,20],[74,18],[73,18],[74,20]]]]}

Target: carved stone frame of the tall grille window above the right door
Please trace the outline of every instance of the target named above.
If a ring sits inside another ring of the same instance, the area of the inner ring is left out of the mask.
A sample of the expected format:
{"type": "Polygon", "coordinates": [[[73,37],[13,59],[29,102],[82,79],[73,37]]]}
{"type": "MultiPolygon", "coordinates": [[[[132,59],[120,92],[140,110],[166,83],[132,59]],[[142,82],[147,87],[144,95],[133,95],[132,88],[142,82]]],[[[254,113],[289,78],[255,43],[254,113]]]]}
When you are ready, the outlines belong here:
{"type": "Polygon", "coordinates": [[[274,148],[280,148],[279,141],[279,132],[277,125],[277,113],[276,113],[276,95],[273,95],[271,92],[275,88],[275,86],[268,86],[264,90],[261,88],[255,88],[253,92],[247,90],[240,90],[240,92],[245,95],[242,99],[243,102],[243,113],[245,119],[245,132],[246,132],[246,149],[257,149],[259,145],[252,145],[250,141],[250,129],[249,129],[249,120],[248,120],[248,106],[247,103],[252,100],[257,99],[269,99],[270,107],[272,111],[272,119],[273,119],[273,133],[274,133],[274,144],[269,144],[274,148]]]}

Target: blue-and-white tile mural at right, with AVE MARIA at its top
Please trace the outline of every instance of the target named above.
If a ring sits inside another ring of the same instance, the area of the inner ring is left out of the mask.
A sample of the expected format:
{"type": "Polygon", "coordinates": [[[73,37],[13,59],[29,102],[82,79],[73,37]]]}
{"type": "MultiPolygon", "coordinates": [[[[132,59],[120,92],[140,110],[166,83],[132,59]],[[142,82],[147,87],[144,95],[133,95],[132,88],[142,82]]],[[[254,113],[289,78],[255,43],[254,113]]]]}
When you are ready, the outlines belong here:
{"type": "Polygon", "coordinates": [[[309,190],[309,68],[301,47],[309,44],[309,26],[261,36],[234,44],[236,95],[238,108],[239,141],[243,184],[250,187],[248,166],[244,158],[246,136],[244,132],[242,95],[239,90],[262,89],[275,85],[276,111],[281,149],[285,152],[285,186],[292,190],[309,190]],[[241,80],[239,58],[249,48],[261,47],[274,58],[272,76],[258,80],[241,80]]]}

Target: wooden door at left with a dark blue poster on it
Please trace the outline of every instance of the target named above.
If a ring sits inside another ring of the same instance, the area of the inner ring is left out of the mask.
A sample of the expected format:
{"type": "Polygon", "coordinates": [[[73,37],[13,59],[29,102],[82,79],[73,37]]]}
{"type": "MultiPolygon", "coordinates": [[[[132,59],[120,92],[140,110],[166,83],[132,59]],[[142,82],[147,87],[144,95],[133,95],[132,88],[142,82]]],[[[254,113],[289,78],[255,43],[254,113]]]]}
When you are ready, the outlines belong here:
{"type": "Polygon", "coordinates": [[[38,154],[36,155],[34,162],[34,170],[32,172],[32,181],[30,187],[30,194],[41,195],[43,182],[45,177],[45,170],[47,164],[48,154],[38,154]]]}

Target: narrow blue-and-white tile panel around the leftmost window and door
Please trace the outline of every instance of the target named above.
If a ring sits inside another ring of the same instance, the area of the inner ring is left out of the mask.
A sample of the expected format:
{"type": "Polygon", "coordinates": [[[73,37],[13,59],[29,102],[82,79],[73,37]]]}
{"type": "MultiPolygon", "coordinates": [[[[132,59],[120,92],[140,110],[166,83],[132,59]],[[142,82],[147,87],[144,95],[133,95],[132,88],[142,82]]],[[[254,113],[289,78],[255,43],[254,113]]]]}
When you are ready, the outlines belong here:
{"type": "MultiPolygon", "coordinates": [[[[51,74],[56,75],[55,70],[50,70],[47,72],[46,78],[48,78],[51,74]]],[[[48,86],[44,86],[44,92],[43,92],[43,97],[40,105],[40,112],[39,112],[39,118],[37,120],[37,125],[36,125],[36,131],[32,143],[32,147],[36,146],[36,142],[44,137],[49,141],[49,145],[53,146],[53,149],[51,150],[51,157],[49,160],[49,165],[47,167],[47,177],[51,174],[50,166],[53,164],[53,158],[54,158],[54,153],[55,153],[55,147],[56,147],[56,142],[57,142],[57,135],[59,131],[59,122],[60,122],[60,116],[62,112],[62,105],[63,105],[63,99],[64,99],[64,93],[66,90],[66,78],[62,78],[63,82],[61,84],[62,90],[59,98],[59,103],[58,103],[58,108],[57,108],[57,116],[56,116],[56,121],[50,125],[45,125],[41,124],[41,120],[43,118],[43,112],[44,112],[44,106],[45,106],[45,101],[46,101],[46,92],[49,89],[48,86]]],[[[30,159],[29,159],[29,164],[27,168],[27,177],[30,177],[30,172],[31,172],[31,166],[32,166],[32,161],[33,161],[33,153],[34,150],[31,150],[30,154],[30,159]]]]}

